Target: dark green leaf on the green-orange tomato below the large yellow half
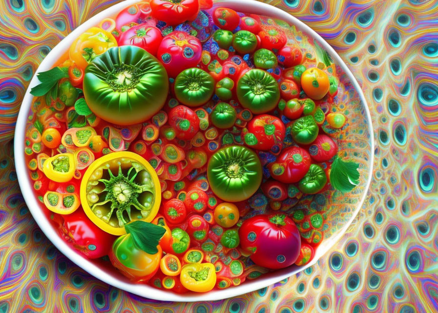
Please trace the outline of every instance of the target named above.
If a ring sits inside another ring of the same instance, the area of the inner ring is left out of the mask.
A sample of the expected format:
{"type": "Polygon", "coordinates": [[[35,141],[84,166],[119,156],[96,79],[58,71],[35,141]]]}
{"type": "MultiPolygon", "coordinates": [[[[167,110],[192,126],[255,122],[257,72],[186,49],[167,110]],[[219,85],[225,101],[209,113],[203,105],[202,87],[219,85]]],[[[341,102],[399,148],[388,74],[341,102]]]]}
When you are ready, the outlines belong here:
{"type": "Polygon", "coordinates": [[[143,221],[126,224],[125,229],[128,234],[131,234],[134,245],[149,254],[158,252],[156,246],[166,232],[164,227],[143,221]]]}

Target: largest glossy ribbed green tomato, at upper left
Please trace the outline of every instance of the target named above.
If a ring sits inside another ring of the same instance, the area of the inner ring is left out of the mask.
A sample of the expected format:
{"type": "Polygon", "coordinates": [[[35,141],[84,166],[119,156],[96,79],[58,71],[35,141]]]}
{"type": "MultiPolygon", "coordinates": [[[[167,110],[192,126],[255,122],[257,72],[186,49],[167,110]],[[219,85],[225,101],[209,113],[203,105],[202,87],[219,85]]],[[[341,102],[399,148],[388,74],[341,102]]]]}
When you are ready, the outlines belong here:
{"type": "Polygon", "coordinates": [[[90,110],[118,125],[151,118],[163,107],[169,92],[166,70],[146,50],[125,45],[113,47],[88,65],[84,96],[90,110]]]}

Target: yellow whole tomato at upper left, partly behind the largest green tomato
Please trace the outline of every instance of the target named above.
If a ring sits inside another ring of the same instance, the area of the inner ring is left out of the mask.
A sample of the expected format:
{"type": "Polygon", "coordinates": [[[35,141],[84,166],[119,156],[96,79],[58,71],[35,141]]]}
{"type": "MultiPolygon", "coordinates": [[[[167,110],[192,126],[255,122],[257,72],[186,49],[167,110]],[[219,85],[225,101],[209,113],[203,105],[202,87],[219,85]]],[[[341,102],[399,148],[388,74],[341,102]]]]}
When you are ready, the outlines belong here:
{"type": "Polygon", "coordinates": [[[114,36],[99,27],[91,27],[70,46],[69,57],[82,70],[97,55],[104,53],[110,47],[116,47],[114,36]]]}

